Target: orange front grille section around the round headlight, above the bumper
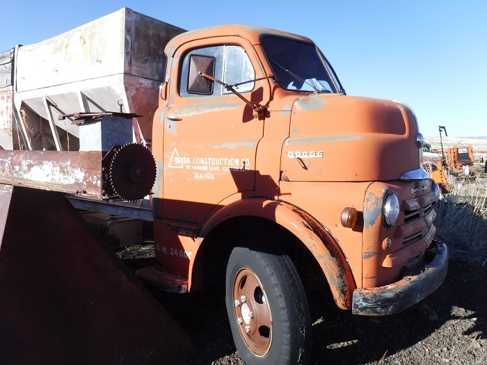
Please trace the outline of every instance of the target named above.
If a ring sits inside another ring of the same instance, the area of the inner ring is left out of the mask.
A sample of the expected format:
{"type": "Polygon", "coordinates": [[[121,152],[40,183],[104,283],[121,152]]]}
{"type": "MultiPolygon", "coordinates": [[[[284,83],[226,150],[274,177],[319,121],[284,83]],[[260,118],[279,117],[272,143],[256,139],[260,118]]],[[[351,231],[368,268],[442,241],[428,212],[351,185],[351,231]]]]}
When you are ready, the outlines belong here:
{"type": "Polygon", "coordinates": [[[432,184],[431,179],[390,181],[375,182],[367,188],[362,243],[364,288],[397,282],[404,270],[419,270],[426,262],[424,252],[436,234],[432,184]],[[382,218],[383,199],[388,192],[397,195],[401,206],[392,227],[387,227],[382,218]]]}

